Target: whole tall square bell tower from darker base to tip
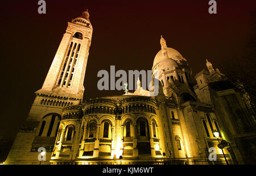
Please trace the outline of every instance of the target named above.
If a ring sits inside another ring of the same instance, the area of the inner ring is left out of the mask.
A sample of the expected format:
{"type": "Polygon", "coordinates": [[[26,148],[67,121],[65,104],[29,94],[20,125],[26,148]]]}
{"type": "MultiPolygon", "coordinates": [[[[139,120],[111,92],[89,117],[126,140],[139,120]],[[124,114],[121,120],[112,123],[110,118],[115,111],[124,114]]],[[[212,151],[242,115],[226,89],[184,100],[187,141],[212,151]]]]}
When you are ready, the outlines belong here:
{"type": "Polygon", "coordinates": [[[34,103],[19,128],[6,164],[39,164],[38,156],[42,151],[46,152],[42,162],[49,164],[63,108],[82,102],[92,32],[88,10],[68,22],[43,86],[35,92],[34,103]]]}

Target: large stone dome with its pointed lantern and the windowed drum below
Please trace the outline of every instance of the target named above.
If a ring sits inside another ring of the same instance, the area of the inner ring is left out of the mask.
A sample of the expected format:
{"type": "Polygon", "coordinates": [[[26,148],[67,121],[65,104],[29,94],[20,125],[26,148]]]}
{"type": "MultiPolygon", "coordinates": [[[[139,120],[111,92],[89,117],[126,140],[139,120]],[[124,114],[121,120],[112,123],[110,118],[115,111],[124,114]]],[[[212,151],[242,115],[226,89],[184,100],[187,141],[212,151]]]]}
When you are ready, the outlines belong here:
{"type": "Polygon", "coordinates": [[[158,71],[164,95],[176,104],[195,101],[196,96],[190,87],[192,70],[187,60],[179,51],[169,48],[163,36],[160,38],[160,45],[161,50],[155,56],[152,72],[158,71]]]}

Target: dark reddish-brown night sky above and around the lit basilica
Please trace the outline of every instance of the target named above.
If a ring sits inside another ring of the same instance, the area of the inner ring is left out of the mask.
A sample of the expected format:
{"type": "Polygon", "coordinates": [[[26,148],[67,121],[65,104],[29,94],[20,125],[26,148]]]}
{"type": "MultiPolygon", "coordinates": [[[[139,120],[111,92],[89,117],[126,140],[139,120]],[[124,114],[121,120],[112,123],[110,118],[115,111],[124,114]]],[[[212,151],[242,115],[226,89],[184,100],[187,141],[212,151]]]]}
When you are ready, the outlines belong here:
{"type": "Polygon", "coordinates": [[[193,75],[205,68],[205,59],[220,70],[228,59],[236,62],[253,35],[256,1],[217,1],[214,15],[208,13],[208,2],[46,0],[46,14],[38,14],[37,0],[2,2],[0,134],[10,146],[34,92],[43,85],[67,22],[87,8],[93,37],[85,99],[123,94],[97,91],[97,72],[110,70],[110,65],[151,70],[160,35],[187,59],[193,75]]]}

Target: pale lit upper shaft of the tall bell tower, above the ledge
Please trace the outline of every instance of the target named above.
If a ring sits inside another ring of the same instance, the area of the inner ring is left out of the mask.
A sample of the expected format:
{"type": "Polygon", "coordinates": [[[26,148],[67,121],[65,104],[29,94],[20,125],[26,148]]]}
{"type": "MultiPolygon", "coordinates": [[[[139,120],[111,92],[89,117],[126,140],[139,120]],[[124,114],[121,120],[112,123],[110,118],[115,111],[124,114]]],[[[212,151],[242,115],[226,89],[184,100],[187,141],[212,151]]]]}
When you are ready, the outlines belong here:
{"type": "Polygon", "coordinates": [[[36,93],[82,100],[92,31],[88,11],[68,22],[43,87],[36,93]]]}

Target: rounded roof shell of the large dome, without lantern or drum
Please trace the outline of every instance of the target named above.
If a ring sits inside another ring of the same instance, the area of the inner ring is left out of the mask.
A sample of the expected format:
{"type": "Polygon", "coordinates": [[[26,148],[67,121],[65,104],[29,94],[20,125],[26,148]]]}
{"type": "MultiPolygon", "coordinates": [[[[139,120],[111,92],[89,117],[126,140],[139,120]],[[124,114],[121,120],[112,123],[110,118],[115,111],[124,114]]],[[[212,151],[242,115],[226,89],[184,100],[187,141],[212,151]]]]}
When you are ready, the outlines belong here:
{"type": "MultiPolygon", "coordinates": [[[[175,61],[185,60],[183,56],[179,53],[179,51],[177,51],[176,49],[173,49],[173,48],[165,48],[165,49],[167,50],[168,57],[171,58],[170,60],[172,59],[174,59],[175,61]]],[[[162,50],[160,50],[158,51],[158,54],[155,55],[153,66],[158,64],[162,59],[163,59],[163,54],[162,54],[162,50]]]]}

